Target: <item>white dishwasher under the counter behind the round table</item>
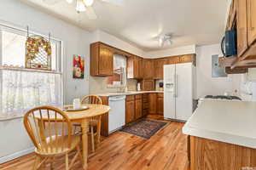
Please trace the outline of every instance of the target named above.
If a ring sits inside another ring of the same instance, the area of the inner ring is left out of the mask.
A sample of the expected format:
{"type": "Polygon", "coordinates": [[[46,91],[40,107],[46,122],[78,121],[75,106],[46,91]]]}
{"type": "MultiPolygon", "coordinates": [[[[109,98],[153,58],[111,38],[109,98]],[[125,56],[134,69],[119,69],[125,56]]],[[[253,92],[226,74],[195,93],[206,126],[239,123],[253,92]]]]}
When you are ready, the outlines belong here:
{"type": "Polygon", "coordinates": [[[125,95],[108,98],[108,105],[111,108],[108,114],[108,133],[113,133],[125,126],[125,98],[125,95]]]}

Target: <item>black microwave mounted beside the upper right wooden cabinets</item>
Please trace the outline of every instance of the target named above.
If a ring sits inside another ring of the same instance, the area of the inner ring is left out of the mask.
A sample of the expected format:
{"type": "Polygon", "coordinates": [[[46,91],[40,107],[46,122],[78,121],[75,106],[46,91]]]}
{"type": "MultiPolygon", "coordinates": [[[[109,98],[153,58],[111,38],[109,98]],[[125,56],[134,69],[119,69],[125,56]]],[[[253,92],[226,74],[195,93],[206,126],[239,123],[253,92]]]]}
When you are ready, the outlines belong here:
{"type": "Polygon", "coordinates": [[[221,50],[225,57],[237,55],[236,30],[225,31],[225,36],[221,42],[221,50]]]}

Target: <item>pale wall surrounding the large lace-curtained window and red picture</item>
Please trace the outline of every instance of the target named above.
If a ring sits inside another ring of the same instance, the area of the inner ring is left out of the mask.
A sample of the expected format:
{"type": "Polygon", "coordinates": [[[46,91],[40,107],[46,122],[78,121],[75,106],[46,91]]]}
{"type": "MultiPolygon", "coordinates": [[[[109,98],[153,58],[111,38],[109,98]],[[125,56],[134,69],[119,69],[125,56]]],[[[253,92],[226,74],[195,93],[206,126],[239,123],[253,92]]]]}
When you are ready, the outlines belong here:
{"type": "MultiPolygon", "coordinates": [[[[38,10],[16,0],[1,0],[0,20],[2,20],[1,23],[8,22],[22,28],[29,26],[32,31],[45,35],[50,32],[53,37],[61,39],[64,42],[64,59],[66,60],[65,102],[71,103],[73,98],[88,94],[89,44],[92,38],[90,32],[38,12],[38,10]],[[86,57],[86,78],[83,80],[74,80],[72,77],[73,54],[81,54],[86,57]]],[[[0,134],[0,163],[32,151],[32,144],[26,135],[22,118],[0,122],[0,134]]]]}

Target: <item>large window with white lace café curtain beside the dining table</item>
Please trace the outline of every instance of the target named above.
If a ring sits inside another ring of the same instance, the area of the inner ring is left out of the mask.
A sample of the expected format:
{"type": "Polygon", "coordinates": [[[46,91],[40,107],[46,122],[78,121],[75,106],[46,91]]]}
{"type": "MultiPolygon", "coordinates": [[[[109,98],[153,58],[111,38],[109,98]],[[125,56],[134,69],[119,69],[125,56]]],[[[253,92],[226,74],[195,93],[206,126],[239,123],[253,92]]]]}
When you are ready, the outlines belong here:
{"type": "Polygon", "coordinates": [[[25,69],[26,32],[0,26],[0,119],[39,105],[62,105],[61,41],[51,40],[53,71],[25,69]]]}

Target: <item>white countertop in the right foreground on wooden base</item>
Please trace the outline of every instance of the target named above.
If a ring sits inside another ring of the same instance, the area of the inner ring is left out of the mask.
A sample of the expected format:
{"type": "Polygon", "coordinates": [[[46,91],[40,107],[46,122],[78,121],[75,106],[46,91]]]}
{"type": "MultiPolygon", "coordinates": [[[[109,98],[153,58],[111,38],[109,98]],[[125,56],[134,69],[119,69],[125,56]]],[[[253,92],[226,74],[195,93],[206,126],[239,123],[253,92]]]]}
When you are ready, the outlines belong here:
{"type": "Polygon", "coordinates": [[[183,133],[256,149],[256,102],[205,100],[183,133]]]}

